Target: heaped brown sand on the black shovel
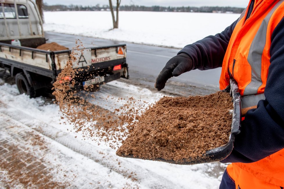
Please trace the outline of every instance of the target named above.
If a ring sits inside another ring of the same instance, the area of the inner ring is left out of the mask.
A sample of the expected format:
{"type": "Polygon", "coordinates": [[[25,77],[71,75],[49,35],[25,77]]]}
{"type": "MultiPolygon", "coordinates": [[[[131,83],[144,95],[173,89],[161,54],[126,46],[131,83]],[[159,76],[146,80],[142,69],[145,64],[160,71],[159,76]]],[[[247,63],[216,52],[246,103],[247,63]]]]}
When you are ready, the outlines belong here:
{"type": "Polygon", "coordinates": [[[181,161],[225,145],[231,132],[229,93],[204,97],[163,97],[134,126],[119,156],[181,161]]]}

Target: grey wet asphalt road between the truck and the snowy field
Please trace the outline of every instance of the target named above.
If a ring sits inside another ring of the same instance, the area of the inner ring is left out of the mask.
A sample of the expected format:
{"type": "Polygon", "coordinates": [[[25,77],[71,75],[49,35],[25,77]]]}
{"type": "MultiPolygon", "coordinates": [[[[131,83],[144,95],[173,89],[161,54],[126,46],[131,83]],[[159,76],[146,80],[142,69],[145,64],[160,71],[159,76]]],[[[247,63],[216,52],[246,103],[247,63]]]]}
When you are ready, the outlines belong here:
{"type": "MultiPolygon", "coordinates": [[[[130,79],[121,79],[121,81],[146,87],[150,90],[156,90],[154,83],[157,75],[167,61],[179,52],[179,49],[175,48],[111,41],[54,32],[45,32],[45,37],[48,39],[47,43],[56,42],[70,49],[75,47],[76,39],[79,39],[84,47],[126,44],[126,61],[129,66],[130,79]]],[[[206,71],[192,70],[179,77],[169,79],[166,87],[161,92],[175,96],[210,94],[218,90],[220,73],[221,68],[206,71]]]]}

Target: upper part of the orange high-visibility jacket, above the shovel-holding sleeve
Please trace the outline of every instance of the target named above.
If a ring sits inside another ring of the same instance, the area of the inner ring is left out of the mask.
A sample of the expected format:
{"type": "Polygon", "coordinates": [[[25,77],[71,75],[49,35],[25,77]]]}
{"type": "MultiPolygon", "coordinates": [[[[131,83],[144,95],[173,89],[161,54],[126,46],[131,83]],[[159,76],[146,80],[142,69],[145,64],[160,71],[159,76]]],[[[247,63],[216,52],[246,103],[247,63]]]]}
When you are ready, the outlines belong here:
{"type": "Polygon", "coordinates": [[[247,10],[241,14],[231,35],[222,64],[220,89],[229,85],[231,75],[241,95],[255,95],[265,89],[271,35],[284,16],[284,4],[275,0],[258,1],[245,20],[247,10]]]}

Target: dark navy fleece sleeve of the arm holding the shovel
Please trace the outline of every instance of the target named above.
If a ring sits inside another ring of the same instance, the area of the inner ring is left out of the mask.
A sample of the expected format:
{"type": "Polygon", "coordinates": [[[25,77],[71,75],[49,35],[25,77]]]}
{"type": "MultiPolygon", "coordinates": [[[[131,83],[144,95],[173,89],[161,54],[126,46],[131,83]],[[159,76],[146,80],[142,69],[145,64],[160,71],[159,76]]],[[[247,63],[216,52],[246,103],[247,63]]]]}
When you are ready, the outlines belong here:
{"type": "Polygon", "coordinates": [[[247,112],[233,151],[223,163],[251,163],[284,148],[284,18],[274,29],[271,40],[266,99],[247,112]]]}

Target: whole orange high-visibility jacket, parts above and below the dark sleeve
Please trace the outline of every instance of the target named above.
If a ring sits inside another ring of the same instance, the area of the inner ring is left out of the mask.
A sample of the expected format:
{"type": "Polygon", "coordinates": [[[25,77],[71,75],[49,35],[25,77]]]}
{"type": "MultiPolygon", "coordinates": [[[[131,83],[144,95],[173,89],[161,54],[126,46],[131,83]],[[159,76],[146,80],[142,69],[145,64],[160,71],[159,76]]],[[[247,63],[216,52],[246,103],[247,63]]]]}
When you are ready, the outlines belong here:
{"type": "MultiPolygon", "coordinates": [[[[221,90],[229,85],[230,77],[237,81],[243,96],[242,108],[257,105],[260,99],[265,99],[264,91],[271,58],[271,36],[284,17],[284,0],[259,0],[254,4],[248,19],[247,12],[248,8],[241,14],[233,30],[220,77],[221,90]]],[[[236,176],[232,167],[235,171],[245,170],[262,181],[284,186],[284,150],[254,163],[233,163],[227,171],[230,176],[236,176]]],[[[249,178],[243,179],[249,182],[249,178]]]]}

